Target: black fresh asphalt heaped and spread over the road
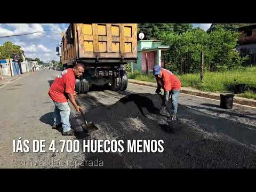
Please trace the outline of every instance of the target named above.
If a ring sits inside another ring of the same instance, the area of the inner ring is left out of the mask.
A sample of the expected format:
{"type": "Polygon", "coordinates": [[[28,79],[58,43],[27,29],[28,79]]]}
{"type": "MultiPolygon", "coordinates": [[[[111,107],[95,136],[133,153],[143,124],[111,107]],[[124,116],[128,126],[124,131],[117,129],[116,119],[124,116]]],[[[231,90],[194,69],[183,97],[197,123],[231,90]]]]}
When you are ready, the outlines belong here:
{"type": "MultiPolygon", "coordinates": [[[[181,129],[166,131],[167,113],[159,111],[159,95],[151,93],[113,92],[91,90],[80,94],[79,102],[85,108],[87,121],[93,122],[98,130],[89,134],[79,129],[83,118],[72,113],[71,124],[77,127],[76,138],[124,140],[123,153],[84,153],[85,160],[102,160],[105,168],[254,168],[256,148],[243,140],[228,137],[221,127],[255,126],[234,122],[179,105],[181,129]],[[78,125],[78,126],[76,126],[78,125]],[[217,130],[217,131],[216,131],[217,130]],[[164,141],[163,153],[127,153],[126,141],[133,139],[164,141]]],[[[234,134],[243,134],[243,132],[234,134]]],[[[87,168],[87,167],[85,167],[87,168]]],[[[102,167],[101,167],[102,168],[102,167]]]]}

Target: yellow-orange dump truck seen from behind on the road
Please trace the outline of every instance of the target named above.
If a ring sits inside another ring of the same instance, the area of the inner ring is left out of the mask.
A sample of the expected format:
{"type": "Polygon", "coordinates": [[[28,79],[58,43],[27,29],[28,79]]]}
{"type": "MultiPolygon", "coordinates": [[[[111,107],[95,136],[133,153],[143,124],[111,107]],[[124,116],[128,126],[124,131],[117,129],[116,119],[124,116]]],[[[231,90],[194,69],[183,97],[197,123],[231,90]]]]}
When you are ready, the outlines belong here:
{"type": "Polygon", "coordinates": [[[57,55],[63,68],[84,64],[83,76],[76,79],[78,93],[87,93],[92,85],[124,91],[128,84],[124,66],[137,62],[137,24],[71,23],[62,33],[57,55]]]}

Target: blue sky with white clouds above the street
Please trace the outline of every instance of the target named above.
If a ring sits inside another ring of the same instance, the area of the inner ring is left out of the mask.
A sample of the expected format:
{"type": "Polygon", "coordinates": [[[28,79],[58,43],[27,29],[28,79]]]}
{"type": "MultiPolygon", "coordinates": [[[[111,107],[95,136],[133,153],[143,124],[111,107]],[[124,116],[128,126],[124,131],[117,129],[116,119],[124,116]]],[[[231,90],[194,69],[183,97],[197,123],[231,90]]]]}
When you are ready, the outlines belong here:
{"type": "MultiPolygon", "coordinates": [[[[56,46],[60,44],[61,33],[66,31],[68,25],[68,23],[0,23],[0,45],[11,41],[15,45],[21,46],[27,58],[39,58],[43,62],[59,61],[60,58],[56,55],[56,46]],[[35,31],[42,32],[2,38],[2,36],[27,34],[35,31]]],[[[207,30],[211,23],[193,23],[193,26],[207,30]]]]}

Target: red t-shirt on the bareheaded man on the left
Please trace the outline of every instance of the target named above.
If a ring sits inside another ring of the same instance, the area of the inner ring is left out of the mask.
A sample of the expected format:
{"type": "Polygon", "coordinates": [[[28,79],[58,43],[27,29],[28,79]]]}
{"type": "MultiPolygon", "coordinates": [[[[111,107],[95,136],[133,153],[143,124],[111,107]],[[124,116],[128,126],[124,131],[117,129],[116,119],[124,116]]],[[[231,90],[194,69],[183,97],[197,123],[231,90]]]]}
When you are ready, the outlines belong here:
{"type": "Polygon", "coordinates": [[[56,102],[68,102],[67,93],[74,93],[76,78],[73,69],[65,69],[55,78],[49,90],[50,98],[56,102]]]}

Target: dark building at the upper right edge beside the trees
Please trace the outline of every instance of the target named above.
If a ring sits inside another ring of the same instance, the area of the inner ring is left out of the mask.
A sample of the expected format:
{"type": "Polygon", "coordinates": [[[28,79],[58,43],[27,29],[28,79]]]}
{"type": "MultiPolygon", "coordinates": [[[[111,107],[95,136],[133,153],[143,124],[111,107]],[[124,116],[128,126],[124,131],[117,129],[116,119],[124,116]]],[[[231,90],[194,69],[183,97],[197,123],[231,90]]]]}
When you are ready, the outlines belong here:
{"type": "Polygon", "coordinates": [[[238,28],[239,38],[236,50],[241,56],[249,55],[247,64],[256,64],[256,25],[238,28]]]}

